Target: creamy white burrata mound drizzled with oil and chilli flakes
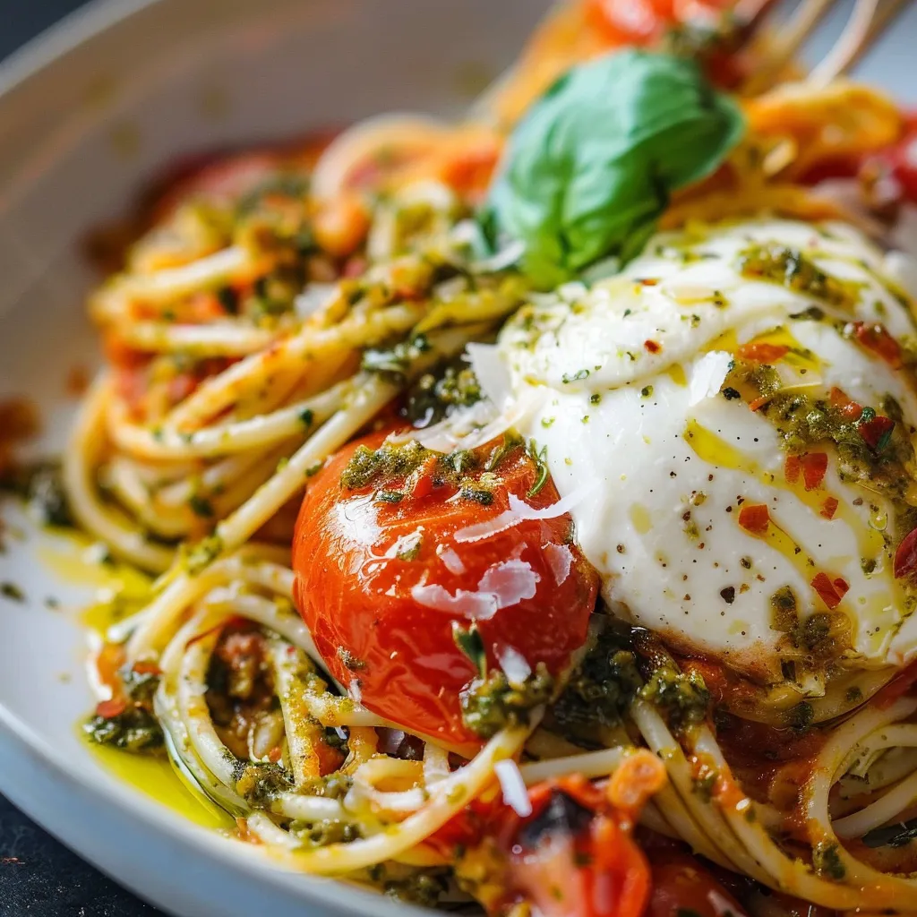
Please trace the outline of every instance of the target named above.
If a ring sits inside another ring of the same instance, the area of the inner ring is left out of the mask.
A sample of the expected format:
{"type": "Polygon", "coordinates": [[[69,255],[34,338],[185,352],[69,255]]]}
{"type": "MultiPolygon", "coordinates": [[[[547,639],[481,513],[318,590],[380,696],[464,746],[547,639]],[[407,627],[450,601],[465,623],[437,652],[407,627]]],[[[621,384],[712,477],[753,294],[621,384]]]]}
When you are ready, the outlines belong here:
{"type": "Polygon", "coordinates": [[[474,355],[492,400],[547,448],[615,613],[779,679],[789,638],[775,629],[774,602],[789,587],[801,623],[846,615],[849,664],[917,654],[917,624],[892,571],[905,533],[894,531],[888,494],[842,474],[830,442],[812,445],[828,455],[823,481],[807,491],[788,480],[779,425],[728,381],[743,345],[788,348],[767,361],[781,392],[824,402],[837,388],[878,414],[890,395],[903,415],[896,436],[910,436],[917,400],[907,372],[864,346],[854,324],[913,334],[890,272],[849,226],[758,220],[661,235],[622,275],[536,297],[495,351],[474,355]],[[752,279],[743,264],[758,246],[801,254],[847,299],[752,279]],[[746,530],[742,508],[762,504],[767,533],[746,530]],[[843,593],[838,601],[813,585],[820,573],[843,593]]]}

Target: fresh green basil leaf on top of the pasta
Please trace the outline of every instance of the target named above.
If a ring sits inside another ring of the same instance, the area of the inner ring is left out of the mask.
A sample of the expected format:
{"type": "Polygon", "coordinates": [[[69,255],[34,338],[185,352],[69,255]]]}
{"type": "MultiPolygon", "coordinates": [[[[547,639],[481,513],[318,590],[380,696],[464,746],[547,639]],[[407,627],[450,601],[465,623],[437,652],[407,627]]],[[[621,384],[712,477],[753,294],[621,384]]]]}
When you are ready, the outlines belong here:
{"type": "Polygon", "coordinates": [[[693,61],[643,50],[598,58],[516,127],[482,225],[525,243],[524,270],[542,287],[600,259],[629,260],[670,194],[716,171],[745,129],[693,61]]]}

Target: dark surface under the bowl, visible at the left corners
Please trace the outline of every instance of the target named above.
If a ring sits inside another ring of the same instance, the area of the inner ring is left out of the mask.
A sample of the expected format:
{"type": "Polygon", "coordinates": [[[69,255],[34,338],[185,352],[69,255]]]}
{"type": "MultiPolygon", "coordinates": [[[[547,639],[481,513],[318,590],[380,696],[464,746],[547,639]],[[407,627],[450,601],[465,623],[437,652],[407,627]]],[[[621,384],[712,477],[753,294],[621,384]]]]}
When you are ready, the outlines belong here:
{"type": "MultiPolygon", "coordinates": [[[[0,0],[0,59],[81,0],[0,0]]],[[[0,917],[162,917],[0,796],[0,917]]],[[[193,917],[193,915],[189,915],[193,917]]]]}

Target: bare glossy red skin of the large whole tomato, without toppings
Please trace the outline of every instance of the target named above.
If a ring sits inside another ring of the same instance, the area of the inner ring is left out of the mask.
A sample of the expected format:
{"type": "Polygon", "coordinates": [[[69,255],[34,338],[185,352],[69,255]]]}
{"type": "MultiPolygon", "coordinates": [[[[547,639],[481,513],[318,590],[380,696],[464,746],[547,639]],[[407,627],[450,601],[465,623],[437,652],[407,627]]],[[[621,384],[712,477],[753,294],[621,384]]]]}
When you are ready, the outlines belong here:
{"type": "Polygon", "coordinates": [[[372,488],[342,492],[341,473],[356,448],[379,447],[384,438],[374,434],[345,447],[310,484],[293,539],[295,601],[326,666],[346,687],[358,681],[370,710],[422,735],[477,746],[480,739],[462,723],[458,698],[476,672],[452,638],[452,623],[468,627],[472,615],[461,607],[428,607],[415,591],[475,591],[489,569],[522,561],[537,578],[535,594],[478,620],[488,665],[499,667],[499,654],[511,646],[533,669],[543,662],[557,675],[585,643],[597,576],[569,544],[569,515],[526,520],[470,543],[455,540],[461,529],[503,513],[511,492],[536,509],[558,501],[550,481],[535,497],[525,497],[536,472],[521,449],[501,464],[503,484],[489,506],[449,502],[455,488],[431,487],[424,477],[401,503],[375,500],[372,488]],[[395,543],[418,528],[416,556],[398,558],[395,543]],[[546,546],[555,546],[559,558],[569,552],[569,573],[559,583],[546,546]]]}

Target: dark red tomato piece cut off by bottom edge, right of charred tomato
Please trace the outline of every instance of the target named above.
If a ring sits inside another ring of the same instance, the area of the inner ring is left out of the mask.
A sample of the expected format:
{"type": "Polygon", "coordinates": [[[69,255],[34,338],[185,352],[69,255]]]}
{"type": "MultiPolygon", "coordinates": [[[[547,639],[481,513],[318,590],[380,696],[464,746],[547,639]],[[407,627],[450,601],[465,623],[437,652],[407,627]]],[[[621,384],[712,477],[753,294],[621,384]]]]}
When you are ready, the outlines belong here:
{"type": "Polygon", "coordinates": [[[746,917],[746,911],[713,878],[713,873],[688,854],[663,854],[652,865],[653,892],[646,917],[746,917]]]}

